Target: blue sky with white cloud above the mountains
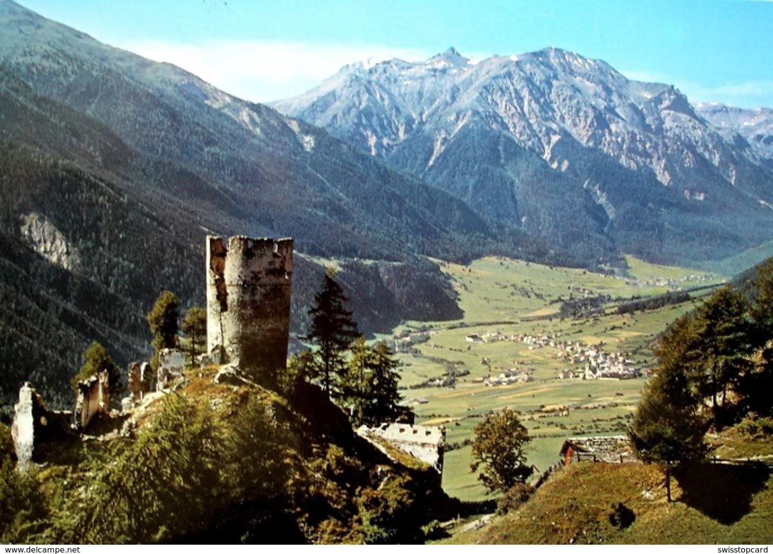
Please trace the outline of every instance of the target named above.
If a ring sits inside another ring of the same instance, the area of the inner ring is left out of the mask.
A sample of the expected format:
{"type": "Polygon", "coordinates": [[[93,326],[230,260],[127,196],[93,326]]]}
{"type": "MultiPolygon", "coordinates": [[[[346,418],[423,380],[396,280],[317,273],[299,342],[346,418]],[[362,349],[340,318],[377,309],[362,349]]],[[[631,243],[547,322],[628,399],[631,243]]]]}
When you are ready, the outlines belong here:
{"type": "Polygon", "coordinates": [[[773,107],[770,0],[21,0],[102,42],[236,96],[305,92],[346,63],[472,59],[547,46],[675,85],[691,101],[773,107]]]}

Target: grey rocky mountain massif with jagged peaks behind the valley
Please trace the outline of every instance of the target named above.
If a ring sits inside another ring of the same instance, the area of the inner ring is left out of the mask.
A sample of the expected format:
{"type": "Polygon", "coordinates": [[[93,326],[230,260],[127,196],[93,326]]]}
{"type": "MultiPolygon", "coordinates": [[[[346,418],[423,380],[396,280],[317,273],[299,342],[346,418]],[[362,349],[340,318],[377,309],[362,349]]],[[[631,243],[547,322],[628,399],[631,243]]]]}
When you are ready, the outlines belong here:
{"type": "Polygon", "coordinates": [[[771,238],[761,147],[674,87],[564,50],[355,64],[274,106],[553,244],[687,262],[771,238]]]}

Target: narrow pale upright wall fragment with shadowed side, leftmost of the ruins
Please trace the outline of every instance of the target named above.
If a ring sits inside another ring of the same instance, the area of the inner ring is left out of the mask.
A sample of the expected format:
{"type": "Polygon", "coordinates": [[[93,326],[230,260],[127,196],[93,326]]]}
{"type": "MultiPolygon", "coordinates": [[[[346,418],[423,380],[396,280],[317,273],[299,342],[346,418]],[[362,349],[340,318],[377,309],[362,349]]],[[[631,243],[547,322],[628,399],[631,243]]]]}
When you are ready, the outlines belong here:
{"type": "Polygon", "coordinates": [[[73,413],[46,408],[43,399],[25,382],[19,389],[19,403],[14,406],[11,437],[16,451],[17,467],[24,471],[37,461],[36,446],[48,440],[61,440],[69,433],[73,413]]]}

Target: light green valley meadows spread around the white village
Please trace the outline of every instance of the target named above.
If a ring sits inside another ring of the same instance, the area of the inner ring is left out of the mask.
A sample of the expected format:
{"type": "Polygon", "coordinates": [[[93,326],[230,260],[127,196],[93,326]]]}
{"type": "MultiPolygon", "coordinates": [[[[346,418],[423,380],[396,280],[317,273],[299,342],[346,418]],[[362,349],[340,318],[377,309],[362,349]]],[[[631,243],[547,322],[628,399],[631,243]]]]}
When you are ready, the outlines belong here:
{"type": "MultiPolygon", "coordinates": [[[[625,276],[549,267],[502,257],[487,257],[468,266],[439,262],[465,311],[463,319],[436,323],[408,322],[400,332],[429,333],[411,354],[400,354],[401,393],[417,414],[417,423],[446,428],[443,485],[465,501],[485,498],[485,489],[470,471],[469,442],[476,423],[491,410],[518,410],[529,429],[529,461],[545,471],[558,461],[567,437],[622,434],[646,379],[560,379],[560,372],[584,373],[584,363],[560,358],[560,342],[600,345],[625,355],[642,371],[652,366],[653,339],[670,321],[690,311],[691,301],[617,314],[623,299],[650,297],[677,289],[720,284],[724,277],[701,270],[658,266],[628,258],[625,276]],[[560,318],[562,301],[604,298],[604,313],[560,318]],[[470,342],[478,335],[482,342],[470,342]],[[556,346],[530,345],[522,335],[547,336],[556,346]],[[453,386],[421,386],[448,369],[466,373],[453,386]],[[533,380],[487,386],[483,379],[506,369],[528,370],[533,380]],[[467,373],[468,372],[468,373],[467,373]]],[[[709,291],[710,292],[710,291],[709,291]]]]}

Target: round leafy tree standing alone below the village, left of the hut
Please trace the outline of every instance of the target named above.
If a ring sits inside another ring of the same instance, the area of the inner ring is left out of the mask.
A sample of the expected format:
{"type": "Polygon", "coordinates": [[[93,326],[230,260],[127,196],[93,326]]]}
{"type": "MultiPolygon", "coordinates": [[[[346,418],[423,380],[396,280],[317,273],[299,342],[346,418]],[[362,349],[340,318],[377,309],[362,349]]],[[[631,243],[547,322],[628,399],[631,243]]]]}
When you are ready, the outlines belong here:
{"type": "Polygon", "coordinates": [[[523,427],[518,412],[509,408],[489,413],[475,426],[472,441],[472,471],[489,491],[505,492],[516,483],[523,483],[532,474],[526,465],[526,445],[529,431],[523,427]]]}

